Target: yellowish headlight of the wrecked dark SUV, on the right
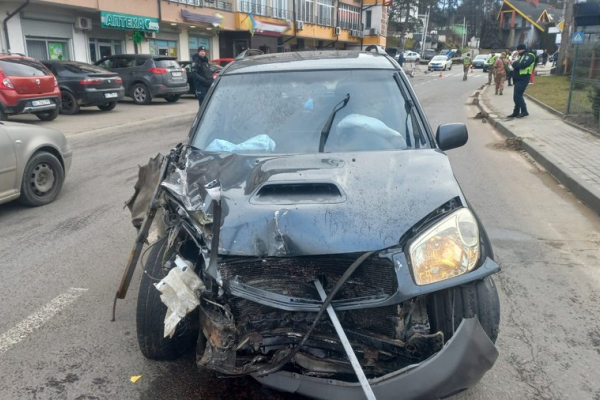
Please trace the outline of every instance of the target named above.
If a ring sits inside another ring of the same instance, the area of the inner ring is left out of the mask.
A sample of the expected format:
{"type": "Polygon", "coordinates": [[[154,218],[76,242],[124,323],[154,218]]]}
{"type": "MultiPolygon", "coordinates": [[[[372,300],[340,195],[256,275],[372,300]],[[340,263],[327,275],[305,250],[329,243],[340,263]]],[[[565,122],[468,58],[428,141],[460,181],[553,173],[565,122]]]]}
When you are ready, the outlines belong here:
{"type": "Polygon", "coordinates": [[[475,217],[461,208],[420,234],[408,254],[417,285],[462,275],[479,260],[479,227],[475,217]]]}

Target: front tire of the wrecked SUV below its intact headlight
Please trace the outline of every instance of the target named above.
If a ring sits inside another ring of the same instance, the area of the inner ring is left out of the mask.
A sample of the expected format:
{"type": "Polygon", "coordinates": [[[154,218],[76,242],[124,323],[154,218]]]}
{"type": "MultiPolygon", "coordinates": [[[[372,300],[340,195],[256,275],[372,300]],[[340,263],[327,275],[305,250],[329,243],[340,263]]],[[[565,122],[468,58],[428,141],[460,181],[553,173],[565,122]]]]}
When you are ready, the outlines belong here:
{"type": "Polygon", "coordinates": [[[498,339],[500,300],[491,277],[433,293],[428,300],[432,332],[442,331],[448,341],[464,318],[475,315],[493,343],[498,339]],[[454,298],[454,321],[452,299],[454,298]]]}

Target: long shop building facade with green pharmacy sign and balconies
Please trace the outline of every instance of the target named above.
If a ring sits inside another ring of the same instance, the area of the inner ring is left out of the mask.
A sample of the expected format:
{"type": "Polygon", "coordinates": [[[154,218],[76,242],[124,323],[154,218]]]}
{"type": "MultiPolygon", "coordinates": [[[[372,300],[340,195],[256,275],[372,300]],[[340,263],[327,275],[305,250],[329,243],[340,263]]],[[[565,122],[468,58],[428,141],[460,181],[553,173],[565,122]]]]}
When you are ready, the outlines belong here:
{"type": "Polygon", "coordinates": [[[377,0],[3,0],[3,52],[94,62],[112,54],[189,60],[248,48],[265,53],[385,47],[387,5],[377,0]]]}

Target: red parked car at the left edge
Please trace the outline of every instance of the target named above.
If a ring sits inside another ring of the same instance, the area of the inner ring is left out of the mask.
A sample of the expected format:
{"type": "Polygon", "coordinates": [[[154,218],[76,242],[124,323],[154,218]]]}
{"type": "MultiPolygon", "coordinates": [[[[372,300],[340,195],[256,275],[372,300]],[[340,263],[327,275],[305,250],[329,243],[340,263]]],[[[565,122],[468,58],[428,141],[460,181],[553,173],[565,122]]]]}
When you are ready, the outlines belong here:
{"type": "Polygon", "coordinates": [[[60,100],[58,81],[42,63],[23,55],[0,54],[0,121],[25,113],[52,121],[60,100]]]}

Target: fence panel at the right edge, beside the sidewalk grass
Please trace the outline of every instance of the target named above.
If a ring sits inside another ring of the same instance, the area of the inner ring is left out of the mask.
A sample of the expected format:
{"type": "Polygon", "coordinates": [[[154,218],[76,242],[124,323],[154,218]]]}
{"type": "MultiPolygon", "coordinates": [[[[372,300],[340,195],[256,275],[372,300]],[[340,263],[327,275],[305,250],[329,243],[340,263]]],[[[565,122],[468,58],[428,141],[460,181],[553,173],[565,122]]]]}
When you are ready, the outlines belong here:
{"type": "Polygon", "coordinates": [[[589,129],[600,131],[600,36],[588,35],[575,45],[567,116],[589,129]]]}

